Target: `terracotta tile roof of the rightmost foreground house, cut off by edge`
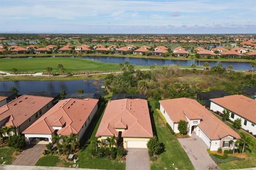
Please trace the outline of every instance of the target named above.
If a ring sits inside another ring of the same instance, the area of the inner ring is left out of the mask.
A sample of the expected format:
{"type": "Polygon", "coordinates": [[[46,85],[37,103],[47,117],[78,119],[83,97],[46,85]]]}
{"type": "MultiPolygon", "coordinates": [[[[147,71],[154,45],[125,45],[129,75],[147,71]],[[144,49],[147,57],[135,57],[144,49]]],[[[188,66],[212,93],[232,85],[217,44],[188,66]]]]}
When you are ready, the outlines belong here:
{"type": "Polygon", "coordinates": [[[210,100],[256,124],[256,100],[243,95],[231,95],[210,100]]]}

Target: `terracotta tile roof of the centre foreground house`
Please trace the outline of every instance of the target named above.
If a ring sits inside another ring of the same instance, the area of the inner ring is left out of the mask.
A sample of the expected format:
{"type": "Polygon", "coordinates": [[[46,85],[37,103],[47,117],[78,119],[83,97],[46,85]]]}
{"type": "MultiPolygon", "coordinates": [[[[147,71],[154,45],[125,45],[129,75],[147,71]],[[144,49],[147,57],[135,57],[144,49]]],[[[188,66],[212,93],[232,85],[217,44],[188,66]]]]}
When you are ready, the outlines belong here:
{"type": "Polygon", "coordinates": [[[122,137],[153,137],[147,100],[110,100],[100,122],[96,137],[117,136],[118,132],[115,128],[125,128],[125,131],[122,132],[122,137]]]}

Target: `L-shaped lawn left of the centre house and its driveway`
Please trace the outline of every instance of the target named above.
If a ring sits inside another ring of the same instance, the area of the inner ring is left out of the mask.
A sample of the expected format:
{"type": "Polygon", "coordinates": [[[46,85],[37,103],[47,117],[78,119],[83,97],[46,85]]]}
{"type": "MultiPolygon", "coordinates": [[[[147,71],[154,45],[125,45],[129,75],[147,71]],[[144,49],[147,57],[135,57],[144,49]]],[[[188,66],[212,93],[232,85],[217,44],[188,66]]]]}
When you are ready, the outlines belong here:
{"type": "Polygon", "coordinates": [[[93,159],[90,151],[90,141],[95,138],[95,134],[99,128],[103,112],[106,104],[102,106],[94,116],[93,121],[90,124],[90,129],[87,130],[85,137],[82,139],[85,142],[83,149],[78,151],[79,167],[81,168],[94,168],[94,169],[125,169],[125,163],[118,163],[108,159],[93,159]]]}

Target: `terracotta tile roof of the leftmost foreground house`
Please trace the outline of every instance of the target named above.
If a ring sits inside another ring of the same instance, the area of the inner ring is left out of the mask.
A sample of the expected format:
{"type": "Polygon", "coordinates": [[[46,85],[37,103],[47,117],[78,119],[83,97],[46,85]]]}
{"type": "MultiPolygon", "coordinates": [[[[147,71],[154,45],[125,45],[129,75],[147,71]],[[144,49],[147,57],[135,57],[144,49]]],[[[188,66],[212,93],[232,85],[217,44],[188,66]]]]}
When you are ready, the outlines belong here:
{"type": "Polygon", "coordinates": [[[0,121],[10,117],[5,125],[19,126],[52,100],[51,97],[23,95],[0,107],[0,121]]]}

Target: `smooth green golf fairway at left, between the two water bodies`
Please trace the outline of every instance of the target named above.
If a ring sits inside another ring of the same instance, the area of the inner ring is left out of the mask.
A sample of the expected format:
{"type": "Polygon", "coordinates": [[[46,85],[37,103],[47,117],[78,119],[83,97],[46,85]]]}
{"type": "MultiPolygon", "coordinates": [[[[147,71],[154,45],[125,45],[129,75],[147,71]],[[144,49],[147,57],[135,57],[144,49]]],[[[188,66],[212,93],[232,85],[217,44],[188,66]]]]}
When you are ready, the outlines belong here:
{"type": "Polygon", "coordinates": [[[119,65],[115,63],[100,63],[81,58],[15,58],[0,59],[0,71],[12,72],[16,68],[17,73],[46,72],[46,67],[52,67],[53,72],[59,72],[58,64],[62,64],[67,72],[83,71],[119,71],[119,65]]]}

